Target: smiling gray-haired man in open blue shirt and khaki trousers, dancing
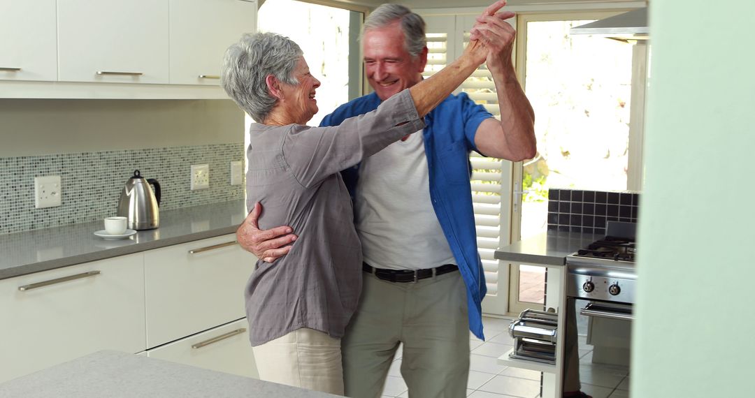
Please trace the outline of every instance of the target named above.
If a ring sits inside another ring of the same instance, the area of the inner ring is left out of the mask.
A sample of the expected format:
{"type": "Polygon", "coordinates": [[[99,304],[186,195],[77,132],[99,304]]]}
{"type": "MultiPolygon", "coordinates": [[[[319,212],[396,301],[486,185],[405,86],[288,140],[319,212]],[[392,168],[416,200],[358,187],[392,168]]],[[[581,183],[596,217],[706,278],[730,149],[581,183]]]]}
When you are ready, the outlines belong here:
{"type": "MultiPolygon", "coordinates": [[[[495,10],[478,17],[472,38],[492,47],[486,63],[501,121],[467,94],[451,95],[427,115],[421,134],[343,172],[364,257],[362,295],[342,341],[347,396],[381,395],[399,343],[410,396],[466,396],[467,330],[483,338],[485,296],[468,156],[476,151],[522,161],[535,155],[535,115],[511,62],[515,31],[505,20],[513,13],[495,10]]],[[[374,93],[339,107],[322,125],[370,112],[418,84],[427,63],[424,30],[424,20],[402,5],[374,10],[362,39],[374,93]]],[[[245,249],[273,262],[297,237],[288,226],[260,231],[261,211],[254,207],[237,237],[245,249]]]]}

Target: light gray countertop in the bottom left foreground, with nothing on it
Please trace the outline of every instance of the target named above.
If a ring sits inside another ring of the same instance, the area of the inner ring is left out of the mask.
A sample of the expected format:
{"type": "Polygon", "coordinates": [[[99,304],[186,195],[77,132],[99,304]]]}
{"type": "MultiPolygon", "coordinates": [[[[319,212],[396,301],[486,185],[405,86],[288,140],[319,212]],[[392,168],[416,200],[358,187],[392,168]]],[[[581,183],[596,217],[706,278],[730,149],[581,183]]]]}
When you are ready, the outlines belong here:
{"type": "Polygon", "coordinates": [[[0,384],[0,396],[327,398],[334,395],[117,351],[86,357],[0,384]]]}

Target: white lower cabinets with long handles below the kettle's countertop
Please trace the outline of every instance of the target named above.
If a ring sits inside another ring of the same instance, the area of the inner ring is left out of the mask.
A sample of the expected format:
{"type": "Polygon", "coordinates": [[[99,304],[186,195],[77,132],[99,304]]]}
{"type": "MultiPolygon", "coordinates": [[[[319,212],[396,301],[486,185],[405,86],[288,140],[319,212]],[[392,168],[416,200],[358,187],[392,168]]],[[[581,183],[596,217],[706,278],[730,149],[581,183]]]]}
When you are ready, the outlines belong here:
{"type": "Polygon", "coordinates": [[[236,235],[0,280],[0,382],[101,350],[257,377],[236,235]]]}

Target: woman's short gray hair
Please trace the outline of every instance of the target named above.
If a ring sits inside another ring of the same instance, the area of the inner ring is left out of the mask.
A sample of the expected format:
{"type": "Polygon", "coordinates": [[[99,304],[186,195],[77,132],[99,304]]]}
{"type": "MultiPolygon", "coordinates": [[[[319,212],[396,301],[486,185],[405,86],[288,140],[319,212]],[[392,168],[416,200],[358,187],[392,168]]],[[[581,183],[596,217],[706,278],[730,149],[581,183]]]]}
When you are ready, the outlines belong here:
{"type": "Polygon", "coordinates": [[[285,36],[245,33],[223,57],[220,85],[241,109],[262,123],[278,102],[267,90],[267,75],[286,84],[299,84],[294,69],[302,55],[299,45],[285,36]]]}

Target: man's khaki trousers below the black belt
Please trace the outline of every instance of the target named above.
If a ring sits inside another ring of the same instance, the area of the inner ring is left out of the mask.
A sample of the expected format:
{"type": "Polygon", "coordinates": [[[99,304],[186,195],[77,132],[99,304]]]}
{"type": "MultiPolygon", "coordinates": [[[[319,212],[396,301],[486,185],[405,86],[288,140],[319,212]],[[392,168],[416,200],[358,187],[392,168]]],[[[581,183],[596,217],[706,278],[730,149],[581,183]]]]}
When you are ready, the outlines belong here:
{"type": "Polygon", "coordinates": [[[470,332],[461,274],[416,283],[363,275],[359,307],[342,341],[346,395],[381,396],[396,348],[403,343],[401,374],[411,398],[466,396],[470,332]]]}

